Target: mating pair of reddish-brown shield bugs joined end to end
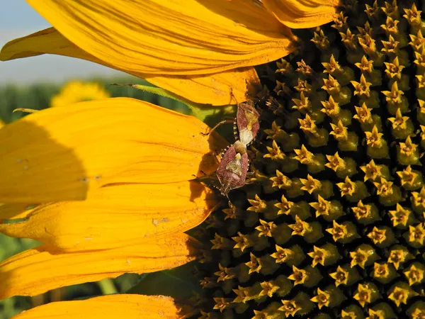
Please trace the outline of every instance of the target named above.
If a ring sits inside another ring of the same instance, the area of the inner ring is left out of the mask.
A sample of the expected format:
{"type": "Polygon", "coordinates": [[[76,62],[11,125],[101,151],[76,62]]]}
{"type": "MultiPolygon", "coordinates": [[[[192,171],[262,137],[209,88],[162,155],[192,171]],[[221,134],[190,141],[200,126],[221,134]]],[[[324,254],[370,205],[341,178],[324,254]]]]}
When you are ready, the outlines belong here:
{"type": "MultiPolygon", "coordinates": [[[[232,189],[238,189],[245,184],[246,174],[249,169],[246,147],[254,141],[259,133],[259,118],[260,113],[254,108],[253,101],[249,100],[238,104],[237,115],[234,119],[234,137],[236,142],[224,152],[216,172],[221,184],[220,192],[225,196],[232,189]]],[[[210,133],[219,125],[227,122],[221,121],[210,130],[210,133]]]]}

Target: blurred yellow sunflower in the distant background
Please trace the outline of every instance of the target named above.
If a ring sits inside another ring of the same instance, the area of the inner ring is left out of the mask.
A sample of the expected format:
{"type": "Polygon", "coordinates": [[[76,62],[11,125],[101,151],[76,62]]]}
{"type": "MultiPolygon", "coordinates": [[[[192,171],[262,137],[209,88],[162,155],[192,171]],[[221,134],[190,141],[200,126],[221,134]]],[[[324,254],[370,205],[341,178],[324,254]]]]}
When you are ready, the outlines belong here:
{"type": "Polygon", "coordinates": [[[96,82],[71,81],[62,86],[60,92],[52,97],[50,106],[68,106],[80,101],[108,99],[111,97],[101,84],[96,82]]]}

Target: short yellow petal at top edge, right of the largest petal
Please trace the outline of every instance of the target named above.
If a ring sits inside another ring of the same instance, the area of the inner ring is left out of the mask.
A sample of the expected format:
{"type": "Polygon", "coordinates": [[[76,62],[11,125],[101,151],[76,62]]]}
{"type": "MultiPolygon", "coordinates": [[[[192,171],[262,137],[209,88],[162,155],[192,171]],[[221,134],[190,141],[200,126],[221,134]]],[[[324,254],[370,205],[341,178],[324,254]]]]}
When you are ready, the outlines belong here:
{"type": "Polygon", "coordinates": [[[332,21],[339,0],[262,0],[263,5],[285,26],[313,28],[332,21]]]}

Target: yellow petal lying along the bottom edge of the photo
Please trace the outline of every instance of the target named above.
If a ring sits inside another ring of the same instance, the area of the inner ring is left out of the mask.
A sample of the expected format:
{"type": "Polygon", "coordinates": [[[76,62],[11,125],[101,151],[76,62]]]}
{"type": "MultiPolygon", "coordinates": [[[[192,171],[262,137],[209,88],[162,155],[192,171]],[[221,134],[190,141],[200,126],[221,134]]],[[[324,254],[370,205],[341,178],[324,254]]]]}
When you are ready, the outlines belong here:
{"type": "Polygon", "coordinates": [[[109,295],[81,301],[58,301],[26,310],[13,319],[183,319],[187,316],[167,296],[109,295]]]}

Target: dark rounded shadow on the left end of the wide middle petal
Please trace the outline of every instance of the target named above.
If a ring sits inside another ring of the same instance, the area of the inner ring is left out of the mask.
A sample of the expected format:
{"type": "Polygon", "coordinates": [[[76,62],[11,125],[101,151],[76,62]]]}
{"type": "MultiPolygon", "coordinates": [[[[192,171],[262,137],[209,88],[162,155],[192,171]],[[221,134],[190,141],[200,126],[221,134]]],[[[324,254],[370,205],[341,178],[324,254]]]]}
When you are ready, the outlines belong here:
{"type": "Polygon", "coordinates": [[[0,202],[81,201],[96,183],[74,150],[26,118],[0,130],[0,145],[0,202]]]}

